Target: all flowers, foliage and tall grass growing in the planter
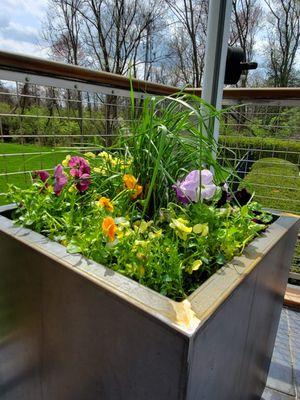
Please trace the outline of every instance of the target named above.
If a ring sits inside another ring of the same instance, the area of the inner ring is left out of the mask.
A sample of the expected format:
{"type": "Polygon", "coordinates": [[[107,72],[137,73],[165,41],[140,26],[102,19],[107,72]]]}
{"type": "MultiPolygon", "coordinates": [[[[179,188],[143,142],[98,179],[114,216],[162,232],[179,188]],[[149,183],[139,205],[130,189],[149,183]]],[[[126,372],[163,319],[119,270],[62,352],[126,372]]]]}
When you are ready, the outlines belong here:
{"type": "Polygon", "coordinates": [[[231,193],[233,172],[217,163],[215,143],[202,133],[216,111],[203,114],[200,100],[188,100],[146,99],[118,148],[69,155],[53,174],[36,171],[30,188],[11,186],[16,221],[185,298],[272,220],[245,190],[231,193]]]}

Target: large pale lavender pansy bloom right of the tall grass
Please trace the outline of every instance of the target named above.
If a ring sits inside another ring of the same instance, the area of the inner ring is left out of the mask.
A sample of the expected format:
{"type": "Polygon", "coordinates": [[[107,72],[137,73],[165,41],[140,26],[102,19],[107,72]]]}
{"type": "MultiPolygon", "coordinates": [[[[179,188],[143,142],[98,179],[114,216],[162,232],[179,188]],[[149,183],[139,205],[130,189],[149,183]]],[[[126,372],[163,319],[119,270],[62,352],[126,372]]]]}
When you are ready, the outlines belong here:
{"type": "Polygon", "coordinates": [[[178,181],[172,187],[182,204],[198,202],[200,197],[202,200],[210,200],[217,189],[213,183],[213,174],[208,169],[191,171],[181,182],[178,181]]]}

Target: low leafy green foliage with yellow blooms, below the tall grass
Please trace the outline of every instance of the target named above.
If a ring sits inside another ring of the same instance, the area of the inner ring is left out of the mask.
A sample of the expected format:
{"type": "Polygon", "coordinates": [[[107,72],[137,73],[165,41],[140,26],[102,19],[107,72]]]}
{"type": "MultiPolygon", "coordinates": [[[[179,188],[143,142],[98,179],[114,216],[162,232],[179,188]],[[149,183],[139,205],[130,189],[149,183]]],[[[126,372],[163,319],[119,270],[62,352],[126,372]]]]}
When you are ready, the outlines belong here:
{"type": "Polygon", "coordinates": [[[155,220],[146,221],[138,217],[130,192],[122,190],[121,176],[115,173],[107,181],[102,175],[105,180],[105,194],[117,193],[111,199],[113,211],[99,207],[102,193],[93,175],[85,194],[74,190],[71,180],[60,196],[40,181],[23,191],[12,186],[9,199],[21,205],[14,218],[70,253],[82,253],[174,300],[185,298],[240,254],[272,218],[261,214],[262,224],[254,222],[254,211],[260,210],[255,203],[217,209],[199,202],[185,208],[170,203],[155,220]],[[113,242],[103,229],[107,218],[114,221],[113,242]]]}

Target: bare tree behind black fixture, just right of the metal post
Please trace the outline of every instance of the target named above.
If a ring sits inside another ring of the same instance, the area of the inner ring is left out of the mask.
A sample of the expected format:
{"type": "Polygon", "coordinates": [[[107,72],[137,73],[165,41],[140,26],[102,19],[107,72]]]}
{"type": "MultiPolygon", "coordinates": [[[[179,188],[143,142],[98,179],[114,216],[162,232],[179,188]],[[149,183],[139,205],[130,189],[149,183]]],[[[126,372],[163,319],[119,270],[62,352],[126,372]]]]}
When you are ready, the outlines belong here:
{"type": "MultiPolygon", "coordinates": [[[[260,29],[262,8],[257,0],[233,0],[230,45],[240,46],[247,60],[253,57],[256,34],[260,29]]],[[[247,85],[248,72],[241,81],[241,86],[247,85]]]]}

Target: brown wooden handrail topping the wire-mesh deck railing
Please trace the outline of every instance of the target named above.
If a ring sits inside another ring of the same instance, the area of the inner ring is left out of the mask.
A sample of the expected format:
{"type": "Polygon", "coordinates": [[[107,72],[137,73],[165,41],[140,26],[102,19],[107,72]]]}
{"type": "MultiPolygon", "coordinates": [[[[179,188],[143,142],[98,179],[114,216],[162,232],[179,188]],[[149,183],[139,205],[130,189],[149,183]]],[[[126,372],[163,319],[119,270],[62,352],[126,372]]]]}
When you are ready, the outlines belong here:
{"type": "MultiPolygon", "coordinates": [[[[130,79],[122,75],[6,51],[0,51],[0,69],[111,88],[130,89],[130,79]]],[[[171,95],[180,90],[174,86],[146,82],[135,78],[132,79],[132,86],[137,92],[157,95],[171,95]]],[[[185,91],[201,96],[201,88],[186,88],[185,91]]],[[[233,100],[300,100],[300,88],[225,88],[223,97],[233,100]]]]}

